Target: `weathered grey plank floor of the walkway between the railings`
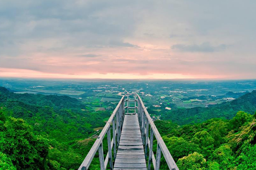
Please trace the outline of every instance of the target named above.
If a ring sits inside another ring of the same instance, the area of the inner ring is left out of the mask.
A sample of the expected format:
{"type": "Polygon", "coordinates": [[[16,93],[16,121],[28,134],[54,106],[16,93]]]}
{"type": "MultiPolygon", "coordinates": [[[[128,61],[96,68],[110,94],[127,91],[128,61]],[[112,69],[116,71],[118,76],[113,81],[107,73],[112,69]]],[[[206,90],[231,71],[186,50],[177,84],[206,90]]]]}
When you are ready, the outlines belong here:
{"type": "Polygon", "coordinates": [[[147,170],[137,114],[125,115],[114,170],[147,170]]]}

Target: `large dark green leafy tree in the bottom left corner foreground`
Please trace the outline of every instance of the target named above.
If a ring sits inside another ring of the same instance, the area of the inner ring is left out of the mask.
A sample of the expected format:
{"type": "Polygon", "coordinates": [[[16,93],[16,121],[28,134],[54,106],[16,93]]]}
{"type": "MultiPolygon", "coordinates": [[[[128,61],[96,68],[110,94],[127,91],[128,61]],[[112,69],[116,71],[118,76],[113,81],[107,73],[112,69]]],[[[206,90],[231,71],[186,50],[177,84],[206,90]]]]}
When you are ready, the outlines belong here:
{"type": "Polygon", "coordinates": [[[46,169],[47,139],[35,136],[22,119],[7,117],[0,129],[0,151],[12,160],[17,169],[46,169]]]}

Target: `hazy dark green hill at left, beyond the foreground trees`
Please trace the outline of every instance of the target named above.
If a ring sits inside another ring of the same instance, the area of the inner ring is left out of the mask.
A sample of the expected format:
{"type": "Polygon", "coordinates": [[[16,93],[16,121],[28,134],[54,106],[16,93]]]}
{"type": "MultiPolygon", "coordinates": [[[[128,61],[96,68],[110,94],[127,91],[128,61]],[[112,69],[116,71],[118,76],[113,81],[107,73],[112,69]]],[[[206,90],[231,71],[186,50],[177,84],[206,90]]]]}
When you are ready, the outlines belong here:
{"type": "Polygon", "coordinates": [[[86,105],[69,96],[15,94],[4,87],[0,87],[0,110],[59,141],[88,137],[110,115],[109,111],[87,111],[86,105]]]}

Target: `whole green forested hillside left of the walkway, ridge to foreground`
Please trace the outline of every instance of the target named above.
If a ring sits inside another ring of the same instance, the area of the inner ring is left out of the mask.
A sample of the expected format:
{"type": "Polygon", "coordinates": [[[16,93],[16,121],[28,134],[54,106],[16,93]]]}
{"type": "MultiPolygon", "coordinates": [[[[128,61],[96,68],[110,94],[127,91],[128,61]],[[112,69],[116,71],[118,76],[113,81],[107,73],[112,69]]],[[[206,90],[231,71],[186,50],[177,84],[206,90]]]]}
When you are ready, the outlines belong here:
{"type": "Polygon", "coordinates": [[[77,169],[95,141],[88,138],[93,128],[104,126],[110,116],[109,111],[84,109],[68,96],[0,88],[0,169],[77,169]]]}

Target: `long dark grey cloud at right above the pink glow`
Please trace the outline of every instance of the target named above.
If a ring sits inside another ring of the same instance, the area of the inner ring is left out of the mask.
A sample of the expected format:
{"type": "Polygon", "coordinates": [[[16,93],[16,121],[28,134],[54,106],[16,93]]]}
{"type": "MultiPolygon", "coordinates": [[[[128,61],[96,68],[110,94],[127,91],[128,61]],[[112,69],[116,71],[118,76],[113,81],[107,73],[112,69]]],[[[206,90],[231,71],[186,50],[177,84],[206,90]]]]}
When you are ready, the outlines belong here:
{"type": "Polygon", "coordinates": [[[215,52],[215,51],[224,51],[227,45],[211,45],[209,42],[204,42],[200,45],[192,44],[192,45],[185,45],[185,44],[175,44],[172,45],[172,49],[177,49],[179,51],[184,52],[215,52]]]}

